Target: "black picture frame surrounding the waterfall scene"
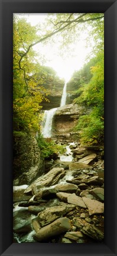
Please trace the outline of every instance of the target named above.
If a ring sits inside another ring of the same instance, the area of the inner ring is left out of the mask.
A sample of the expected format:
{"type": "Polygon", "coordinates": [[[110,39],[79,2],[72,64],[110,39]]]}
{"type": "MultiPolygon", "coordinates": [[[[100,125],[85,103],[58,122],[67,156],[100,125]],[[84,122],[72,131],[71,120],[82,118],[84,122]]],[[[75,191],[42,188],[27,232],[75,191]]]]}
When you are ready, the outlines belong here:
{"type": "Polygon", "coordinates": [[[116,0],[1,0],[1,255],[117,255],[116,232],[116,0]],[[104,12],[105,14],[105,242],[12,243],[12,14],[104,12]]]}

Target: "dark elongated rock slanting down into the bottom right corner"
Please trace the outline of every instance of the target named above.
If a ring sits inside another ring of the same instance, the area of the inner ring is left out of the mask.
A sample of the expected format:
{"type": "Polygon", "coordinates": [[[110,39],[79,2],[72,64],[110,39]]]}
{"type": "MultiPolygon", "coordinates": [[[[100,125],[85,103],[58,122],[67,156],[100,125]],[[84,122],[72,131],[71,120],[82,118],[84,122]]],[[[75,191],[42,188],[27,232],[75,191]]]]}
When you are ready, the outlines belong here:
{"type": "Polygon", "coordinates": [[[73,218],[73,225],[80,229],[82,233],[98,241],[102,241],[104,234],[94,225],[87,223],[85,220],[80,219],[79,217],[73,218]]]}

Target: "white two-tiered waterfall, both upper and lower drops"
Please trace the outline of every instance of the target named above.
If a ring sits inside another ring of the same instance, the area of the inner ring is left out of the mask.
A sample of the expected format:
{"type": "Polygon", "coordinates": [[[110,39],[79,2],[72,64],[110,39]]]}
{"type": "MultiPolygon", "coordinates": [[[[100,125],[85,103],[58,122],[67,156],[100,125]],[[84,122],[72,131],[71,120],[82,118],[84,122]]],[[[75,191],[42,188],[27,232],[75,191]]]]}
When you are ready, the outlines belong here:
{"type": "MultiPolygon", "coordinates": [[[[66,87],[67,87],[67,83],[64,84],[60,107],[62,107],[63,105],[66,105],[66,96],[67,96],[66,87]]],[[[44,121],[43,121],[44,125],[43,125],[43,129],[42,129],[42,135],[44,137],[51,137],[53,116],[54,116],[54,113],[56,112],[56,110],[57,110],[57,108],[51,108],[51,110],[44,111],[44,121]]]]}

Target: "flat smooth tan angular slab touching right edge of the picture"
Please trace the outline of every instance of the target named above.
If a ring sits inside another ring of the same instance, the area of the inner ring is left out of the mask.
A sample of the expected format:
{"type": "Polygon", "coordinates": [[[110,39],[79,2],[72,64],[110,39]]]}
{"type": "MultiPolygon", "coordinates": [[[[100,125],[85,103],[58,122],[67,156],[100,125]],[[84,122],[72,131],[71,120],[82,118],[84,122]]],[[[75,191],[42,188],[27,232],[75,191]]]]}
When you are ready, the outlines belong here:
{"type": "Polygon", "coordinates": [[[104,204],[103,203],[101,203],[97,200],[89,199],[87,197],[83,197],[82,199],[89,210],[89,215],[104,212],[104,204]]]}

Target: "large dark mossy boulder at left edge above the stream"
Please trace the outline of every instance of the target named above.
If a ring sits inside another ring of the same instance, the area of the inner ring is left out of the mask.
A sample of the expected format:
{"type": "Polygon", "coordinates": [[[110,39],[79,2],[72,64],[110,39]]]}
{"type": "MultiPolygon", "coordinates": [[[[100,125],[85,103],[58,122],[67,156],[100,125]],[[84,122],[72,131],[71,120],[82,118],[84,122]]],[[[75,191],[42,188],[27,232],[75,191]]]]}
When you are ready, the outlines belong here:
{"type": "Polygon", "coordinates": [[[14,135],[13,165],[17,185],[30,184],[44,173],[44,160],[35,137],[28,134],[14,135]]]}

